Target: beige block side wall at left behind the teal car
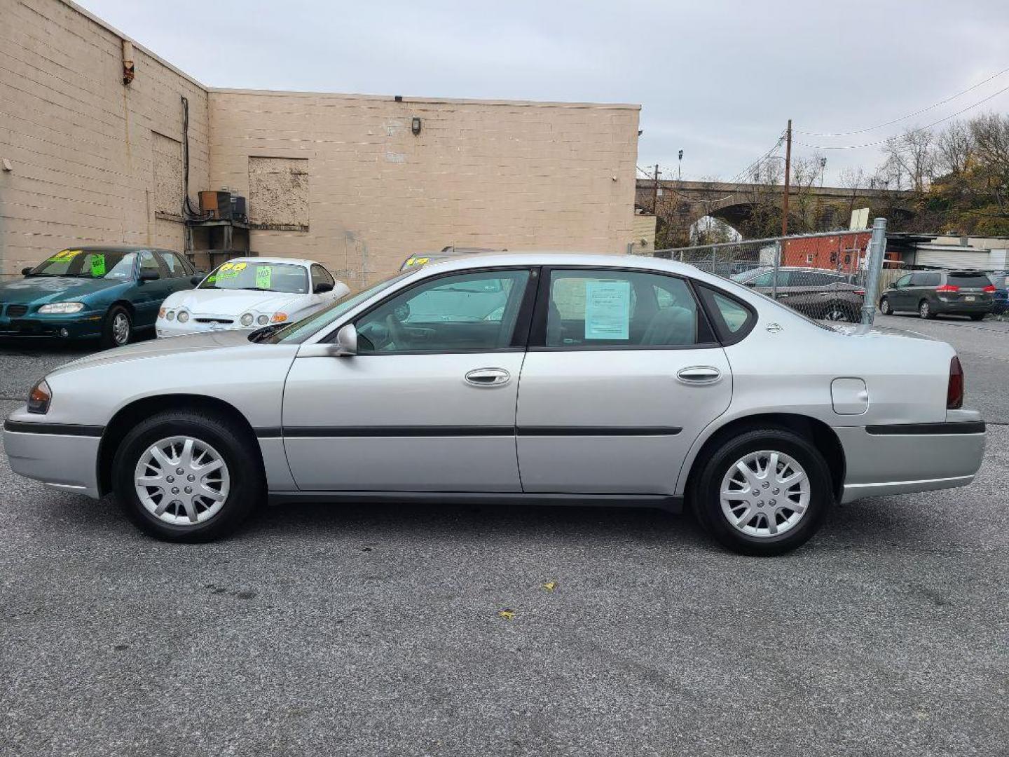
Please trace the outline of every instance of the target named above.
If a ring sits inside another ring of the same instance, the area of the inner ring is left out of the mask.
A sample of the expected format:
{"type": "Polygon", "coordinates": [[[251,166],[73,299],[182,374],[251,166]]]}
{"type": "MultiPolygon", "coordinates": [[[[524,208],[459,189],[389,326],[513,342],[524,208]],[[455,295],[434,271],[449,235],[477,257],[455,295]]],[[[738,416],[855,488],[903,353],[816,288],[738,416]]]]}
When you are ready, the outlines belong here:
{"type": "Polygon", "coordinates": [[[183,248],[182,106],[190,186],[209,184],[207,92],[64,0],[0,0],[0,273],[74,244],[183,248]],[[155,176],[156,175],[156,176],[155,176]]]}

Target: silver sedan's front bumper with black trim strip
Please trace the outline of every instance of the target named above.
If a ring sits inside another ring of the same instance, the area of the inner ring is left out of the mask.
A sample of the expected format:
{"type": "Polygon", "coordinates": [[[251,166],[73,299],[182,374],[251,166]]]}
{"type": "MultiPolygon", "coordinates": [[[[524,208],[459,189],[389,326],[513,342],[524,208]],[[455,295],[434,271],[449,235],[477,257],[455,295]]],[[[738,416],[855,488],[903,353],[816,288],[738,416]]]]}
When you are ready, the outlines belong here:
{"type": "Polygon", "coordinates": [[[98,426],[7,420],[3,446],[18,475],[98,499],[101,434],[98,426]]]}

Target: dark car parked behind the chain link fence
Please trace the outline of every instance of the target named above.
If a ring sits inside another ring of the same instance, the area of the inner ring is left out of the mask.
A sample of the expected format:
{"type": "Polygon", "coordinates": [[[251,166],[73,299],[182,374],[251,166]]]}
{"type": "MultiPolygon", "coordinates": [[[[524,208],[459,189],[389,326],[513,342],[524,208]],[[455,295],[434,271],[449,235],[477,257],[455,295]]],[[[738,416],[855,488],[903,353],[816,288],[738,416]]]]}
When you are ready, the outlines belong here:
{"type": "MultiPolygon", "coordinates": [[[[761,294],[774,292],[774,268],[762,266],[735,274],[733,281],[761,294]]],[[[862,317],[866,291],[852,284],[852,276],[824,268],[784,265],[778,268],[777,297],[800,313],[827,321],[857,323],[862,317]]]]}

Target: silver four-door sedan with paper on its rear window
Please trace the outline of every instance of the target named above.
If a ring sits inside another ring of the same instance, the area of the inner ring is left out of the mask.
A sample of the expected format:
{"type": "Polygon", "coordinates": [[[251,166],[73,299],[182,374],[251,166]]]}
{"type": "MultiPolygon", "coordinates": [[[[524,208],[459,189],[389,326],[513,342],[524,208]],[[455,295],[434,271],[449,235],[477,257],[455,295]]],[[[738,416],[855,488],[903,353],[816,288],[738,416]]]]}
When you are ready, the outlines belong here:
{"type": "Polygon", "coordinates": [[[828,328],[691,265],[471,255],[296,323],[77,360],[3,441],[15,472],[115,492],[174,541],[267,498],[686,503],[775,554],[835,502],[970,483],[985,424],[963,394],[948,344],[828,328]]]}

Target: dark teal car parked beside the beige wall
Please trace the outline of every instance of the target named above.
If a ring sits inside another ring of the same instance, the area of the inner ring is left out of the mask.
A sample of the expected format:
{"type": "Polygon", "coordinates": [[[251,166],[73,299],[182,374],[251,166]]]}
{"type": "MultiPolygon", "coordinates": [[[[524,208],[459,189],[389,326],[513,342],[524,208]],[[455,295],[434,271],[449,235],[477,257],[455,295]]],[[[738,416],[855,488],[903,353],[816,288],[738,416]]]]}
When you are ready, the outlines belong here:
{"type": "Polygon", "coordinates": [[[0,284],[0,337],[98,337],[122,346],[154,326],[161,302],[193,287],[184,256],[149,247],[88,246],[57,252],[0,284]]]}

